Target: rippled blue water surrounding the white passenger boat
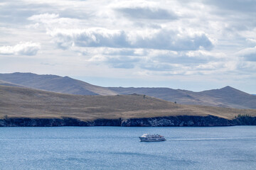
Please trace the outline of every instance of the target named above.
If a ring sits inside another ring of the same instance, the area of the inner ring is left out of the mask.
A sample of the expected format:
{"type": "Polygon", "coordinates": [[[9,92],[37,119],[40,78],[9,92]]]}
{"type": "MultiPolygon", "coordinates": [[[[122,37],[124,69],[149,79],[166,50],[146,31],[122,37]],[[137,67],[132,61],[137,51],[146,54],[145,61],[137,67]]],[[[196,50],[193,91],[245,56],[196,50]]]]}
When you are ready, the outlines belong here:
{"type": "Polygon", "coordinates": [[[0,169],[256,169],[256,126],[0,128],[0,169]]]}

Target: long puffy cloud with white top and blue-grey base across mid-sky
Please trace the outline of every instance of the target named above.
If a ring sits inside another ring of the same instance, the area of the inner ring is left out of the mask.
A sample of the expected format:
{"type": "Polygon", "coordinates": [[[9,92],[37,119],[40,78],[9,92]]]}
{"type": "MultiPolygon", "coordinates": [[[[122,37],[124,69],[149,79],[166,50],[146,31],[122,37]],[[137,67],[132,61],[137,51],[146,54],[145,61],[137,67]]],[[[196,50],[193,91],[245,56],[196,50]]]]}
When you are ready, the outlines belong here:
{"type": "Polygon", "coordinates": [[[161,50],[206,50],[213,43],[204,33],[181,33],[175,30],[124,31],[105,28],[55,29],[48,31],[58,46],[68,49],[78,47],[148,48],[161,50]]]}

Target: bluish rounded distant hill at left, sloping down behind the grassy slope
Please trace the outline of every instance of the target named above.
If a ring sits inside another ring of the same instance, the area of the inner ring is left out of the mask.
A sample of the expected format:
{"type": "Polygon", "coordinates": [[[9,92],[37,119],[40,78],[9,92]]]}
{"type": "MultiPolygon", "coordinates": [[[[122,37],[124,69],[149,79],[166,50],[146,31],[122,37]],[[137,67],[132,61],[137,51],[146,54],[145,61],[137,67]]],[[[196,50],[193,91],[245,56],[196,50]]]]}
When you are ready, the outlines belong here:
{"type": "Polygon", "coordinates": [[[55,91],[63,94],[116,95],[114,91],[101,86],[94,86],[84,81],[71,79],[70,77],[59,77],[55,75],[38,75],[32,73],[0,74],[0,80],[7,81],[11,84],[19,84],[21,86],[55,91]]]}

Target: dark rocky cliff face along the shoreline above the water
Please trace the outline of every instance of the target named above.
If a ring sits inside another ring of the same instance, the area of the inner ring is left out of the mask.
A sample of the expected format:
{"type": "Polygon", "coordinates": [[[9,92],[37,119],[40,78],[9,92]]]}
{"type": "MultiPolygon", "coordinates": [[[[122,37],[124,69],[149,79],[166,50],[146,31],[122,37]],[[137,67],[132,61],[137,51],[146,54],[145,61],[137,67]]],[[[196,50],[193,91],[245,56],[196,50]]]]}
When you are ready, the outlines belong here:
{"type": "Polygon", "coordinates": [[[75,118],[5,118],[0,127],[53,127],[53,126],[124,126],[124,127],[164,127],[164,126],[230,126],[256,125],[256,117],[241,116],[233,120],[208,116],[168,116],[133,119],[97,119],[81,121],[75,118]]]}

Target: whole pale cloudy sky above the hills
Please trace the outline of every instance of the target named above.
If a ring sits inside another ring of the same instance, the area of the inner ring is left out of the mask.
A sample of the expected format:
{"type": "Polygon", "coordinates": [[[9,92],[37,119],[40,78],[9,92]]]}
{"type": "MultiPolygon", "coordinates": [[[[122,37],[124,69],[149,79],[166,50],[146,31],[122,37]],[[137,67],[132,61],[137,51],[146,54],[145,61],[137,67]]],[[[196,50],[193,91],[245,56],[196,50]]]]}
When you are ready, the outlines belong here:
{"type": "Polygon", "coordinates": [[[256,0],[0,1],[0,73],[256,94],[256,0]]]}

